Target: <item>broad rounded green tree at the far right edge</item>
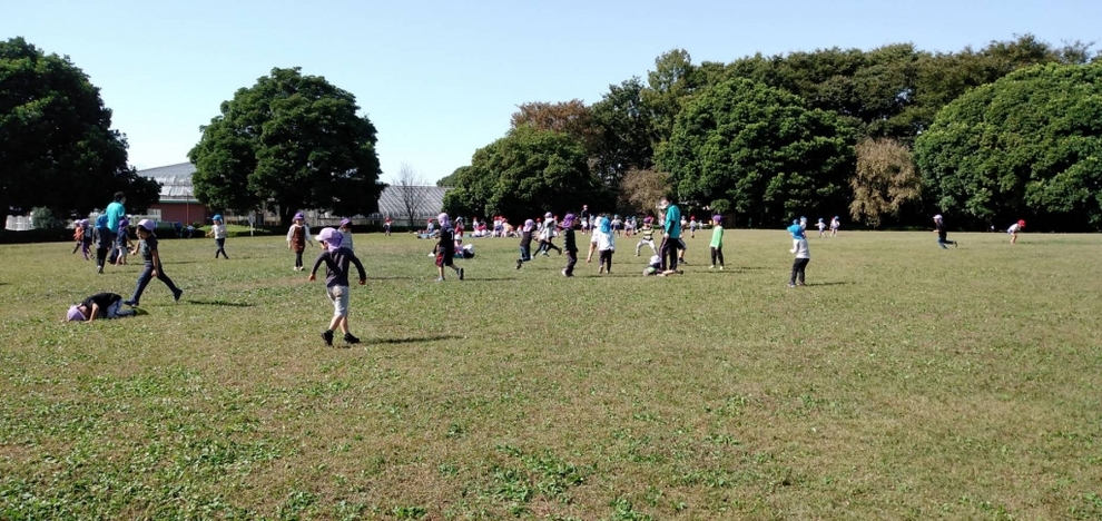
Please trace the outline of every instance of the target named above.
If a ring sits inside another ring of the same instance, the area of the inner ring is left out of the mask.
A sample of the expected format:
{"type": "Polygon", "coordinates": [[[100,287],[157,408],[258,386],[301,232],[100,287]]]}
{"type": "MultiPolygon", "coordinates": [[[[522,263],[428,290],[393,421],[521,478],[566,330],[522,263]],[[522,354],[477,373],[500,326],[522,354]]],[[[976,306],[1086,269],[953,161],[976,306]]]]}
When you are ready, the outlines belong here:
{"type": "Polygon", "coordinates": [[[1035,66],[972,90],[918,137],[915,160],[931,203],[975,223],[1102,227],[1102,63],[1035,66]]]}

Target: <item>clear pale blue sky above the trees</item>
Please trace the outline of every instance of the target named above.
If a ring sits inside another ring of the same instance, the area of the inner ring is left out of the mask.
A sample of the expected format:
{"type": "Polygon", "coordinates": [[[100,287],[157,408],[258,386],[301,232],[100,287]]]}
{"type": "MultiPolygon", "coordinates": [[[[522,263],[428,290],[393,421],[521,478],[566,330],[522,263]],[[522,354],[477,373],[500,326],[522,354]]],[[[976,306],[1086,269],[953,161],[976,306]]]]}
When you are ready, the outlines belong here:
{"type": "Polygon", "coordinates": [[[518,105],[598,101],[673,48],[699,63],[907,41],[953,51],[1026,32],[1102,41],[1099,0],[6,3],[0,38],[83,69],[139,169],[186,161],[236,89],[302,67],[356,96],[378,129],[385,181],[403,164],[435,181],[504,135],[518,105]]]}

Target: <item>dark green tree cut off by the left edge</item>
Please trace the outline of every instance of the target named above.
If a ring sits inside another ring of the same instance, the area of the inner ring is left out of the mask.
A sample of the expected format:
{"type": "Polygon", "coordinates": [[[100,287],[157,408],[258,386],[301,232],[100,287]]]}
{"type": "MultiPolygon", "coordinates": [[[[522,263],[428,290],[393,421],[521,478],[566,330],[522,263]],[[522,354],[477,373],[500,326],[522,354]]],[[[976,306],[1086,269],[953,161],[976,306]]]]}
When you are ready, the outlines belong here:
{"type": "Polygon", "coordinates": [[[160,187],[127,166],[126,149],[99,89],[68,57],[46,55],[22,38],[0,42],[3,215],[32,207],[87,215],[119,190],[128,210],[145,210],[160,187]]]}

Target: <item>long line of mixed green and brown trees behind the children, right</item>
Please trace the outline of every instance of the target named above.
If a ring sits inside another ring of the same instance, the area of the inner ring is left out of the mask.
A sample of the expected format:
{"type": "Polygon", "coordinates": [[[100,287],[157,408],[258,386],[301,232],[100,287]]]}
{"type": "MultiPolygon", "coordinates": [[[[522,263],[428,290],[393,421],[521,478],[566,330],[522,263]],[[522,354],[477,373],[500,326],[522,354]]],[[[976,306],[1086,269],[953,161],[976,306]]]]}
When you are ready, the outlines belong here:
{"type": "Polygon", "coordinates": [[[1031,218],[1102,226],[1100,55],[1031,35],[982,49],[819,49],[693,63],[675,49],[591,105],[518,107],[440,184],[445,209],[519,218],[670,195],[738,226],[844,215],[868,227],[1031,218]]]}

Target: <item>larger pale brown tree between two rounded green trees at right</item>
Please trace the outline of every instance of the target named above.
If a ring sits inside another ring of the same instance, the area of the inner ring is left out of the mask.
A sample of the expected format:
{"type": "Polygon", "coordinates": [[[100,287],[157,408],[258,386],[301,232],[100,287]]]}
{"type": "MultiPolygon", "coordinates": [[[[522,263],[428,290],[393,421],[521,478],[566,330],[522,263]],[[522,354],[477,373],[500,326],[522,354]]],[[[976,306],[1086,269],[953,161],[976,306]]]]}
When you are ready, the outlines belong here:
{"type": "Polygon", "coordinates": [[[876,228],[885,217],[898,217],[904,205],[922,196],[922,177],[911,150],[889,139],[866,138],[857,145],[857,170],[849,179],[849,215],[876,228]]]}

